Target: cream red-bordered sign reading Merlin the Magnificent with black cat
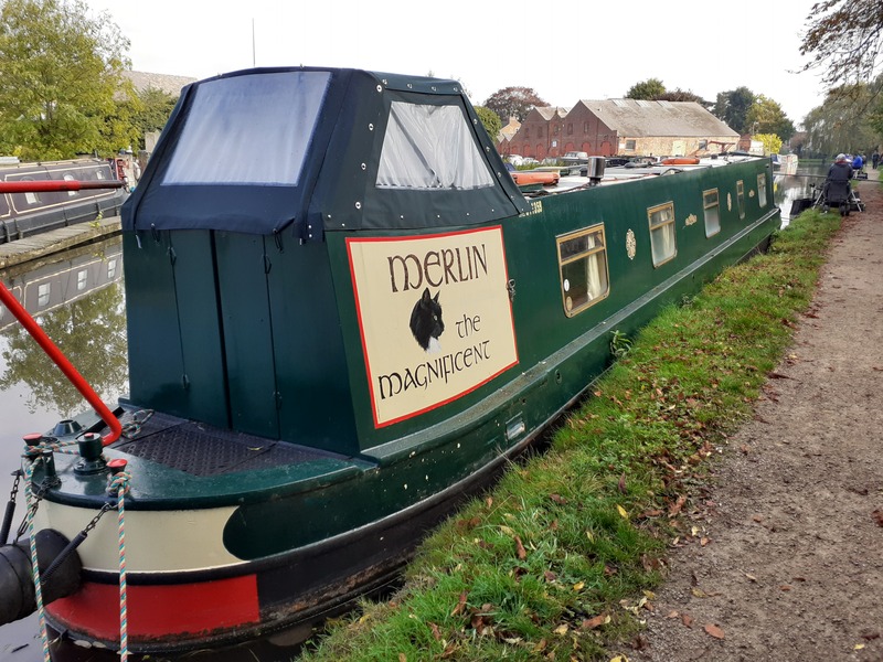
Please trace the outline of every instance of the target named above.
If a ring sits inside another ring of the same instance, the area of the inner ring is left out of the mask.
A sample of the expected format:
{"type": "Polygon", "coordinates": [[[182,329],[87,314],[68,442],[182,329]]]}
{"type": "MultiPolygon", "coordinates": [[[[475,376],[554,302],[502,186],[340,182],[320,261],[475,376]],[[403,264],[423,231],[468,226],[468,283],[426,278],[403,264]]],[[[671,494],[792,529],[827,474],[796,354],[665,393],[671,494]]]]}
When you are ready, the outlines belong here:
{"type": "Polygon", "coordinates": [[[518,363],[502,228],[347,239],[375,427],[518,363]]]}

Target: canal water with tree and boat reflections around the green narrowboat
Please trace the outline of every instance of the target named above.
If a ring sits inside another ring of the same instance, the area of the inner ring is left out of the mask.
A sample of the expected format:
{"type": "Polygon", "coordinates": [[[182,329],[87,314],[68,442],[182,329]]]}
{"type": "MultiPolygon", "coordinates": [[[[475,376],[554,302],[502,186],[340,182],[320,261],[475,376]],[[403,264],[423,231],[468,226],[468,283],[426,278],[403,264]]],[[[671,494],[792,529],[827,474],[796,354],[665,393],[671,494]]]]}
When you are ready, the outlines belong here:
{"type": "MultiPolygon", "coordinates": [[[[792,177],[776,175],[775,200],[783,212],[783,225],[789,221],[792,201],[811,195],[811,185],[822,179],[822,167],[801,169],[792,177]]],[[[0,280],[19,296],[104,402],[114,403],[125,393],[128,375],[119,237],[58,254],[46,264],[0,271],[0,280]]],[[[79,393],[0,306],[0,503],[6,504],[9,499],[10,473],[20,465],[22,436],[50,430],[57,420],[83,409],[79,393]]],[[[23,511],[21,505],[17,510],[13,532],[23,511]]],[[[0,596],[0,599],[6,598],[0,596]]],[[[181,616],[187,618],[187,615],[181,616]]],[[[286,640],[297,638],[297,633],[281,633],[223,653],[204,656],[191,653],[185,659],[287,662],[298,649],[286,640]]],[[[71,644],[56,644],[52,650],[53,659],[60,661],[118,659],[107,651],[71,644]]],[[[145,659],[156,662],[167,658],[145,659]]],[[[0,626],[0,662],[42,660],[35,616],[0,626]]]]}

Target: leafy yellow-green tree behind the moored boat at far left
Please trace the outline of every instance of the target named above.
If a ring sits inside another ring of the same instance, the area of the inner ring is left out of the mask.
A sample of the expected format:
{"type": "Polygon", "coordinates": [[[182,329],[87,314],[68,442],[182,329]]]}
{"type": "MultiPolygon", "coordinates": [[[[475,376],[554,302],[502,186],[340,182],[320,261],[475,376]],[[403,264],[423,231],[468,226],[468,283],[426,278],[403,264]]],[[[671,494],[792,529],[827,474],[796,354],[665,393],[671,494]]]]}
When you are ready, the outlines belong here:
{"type": "Polygon", "coordinates": [[[6,0],[0,9],[0,148],[25,159],[60,159],[132,142],[115,95],[129,42],[83,0],[6,0]],[[110,126],[107,119],[114,118],[110,126]]]}

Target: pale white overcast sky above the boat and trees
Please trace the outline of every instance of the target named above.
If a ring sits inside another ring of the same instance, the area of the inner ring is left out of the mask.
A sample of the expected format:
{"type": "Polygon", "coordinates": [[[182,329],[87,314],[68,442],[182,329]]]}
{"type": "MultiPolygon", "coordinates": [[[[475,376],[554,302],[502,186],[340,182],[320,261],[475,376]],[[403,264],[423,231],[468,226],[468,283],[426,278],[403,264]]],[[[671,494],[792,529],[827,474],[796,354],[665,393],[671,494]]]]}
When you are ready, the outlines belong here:
{"type": "Polygon", "coordinates": [[[647,78],[713,102],[746,86],[799,125],[821,104],[795,73],[815,0],[87,0],[131,41],[135,71],[204,78],[343,66],[459,79],[475,105],[532,87],[550,105],[625,96],[647,78]],[[254,39],[253,39],[254,34],[254,39]]]}

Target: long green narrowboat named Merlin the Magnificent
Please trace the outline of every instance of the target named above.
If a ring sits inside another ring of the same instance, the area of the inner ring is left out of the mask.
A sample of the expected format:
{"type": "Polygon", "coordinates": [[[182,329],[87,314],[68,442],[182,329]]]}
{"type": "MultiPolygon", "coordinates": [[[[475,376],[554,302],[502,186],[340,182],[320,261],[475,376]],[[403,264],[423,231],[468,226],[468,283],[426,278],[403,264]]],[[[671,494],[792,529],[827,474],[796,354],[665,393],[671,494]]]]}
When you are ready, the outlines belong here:
{"type": "Polygon", "coordinates": [[[525,197],[455,81],[185,87],[123,209],[128,395],[102,403],[56,356],[91,407],[24,435],[0,622],[203,649],[395,576],[616,333],[780,225],[768,159],[587,173],[525,197]]]}

